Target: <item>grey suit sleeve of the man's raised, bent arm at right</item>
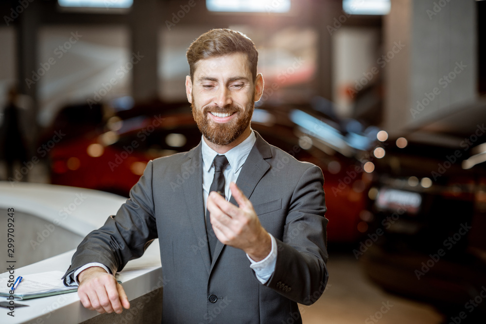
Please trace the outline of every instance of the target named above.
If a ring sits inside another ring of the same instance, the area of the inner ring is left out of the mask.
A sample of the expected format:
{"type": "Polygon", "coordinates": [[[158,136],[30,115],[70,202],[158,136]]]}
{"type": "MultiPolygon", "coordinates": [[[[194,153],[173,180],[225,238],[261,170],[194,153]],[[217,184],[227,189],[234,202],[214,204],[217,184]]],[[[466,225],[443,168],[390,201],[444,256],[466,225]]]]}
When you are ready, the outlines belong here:
{"type": "Polygon", "coordinates": [[[265,286],[304,305],[312,305],[328,281],[324,177],[312,166],[298,181],[282,240],[277,240],[275,272],[265,286]]]}

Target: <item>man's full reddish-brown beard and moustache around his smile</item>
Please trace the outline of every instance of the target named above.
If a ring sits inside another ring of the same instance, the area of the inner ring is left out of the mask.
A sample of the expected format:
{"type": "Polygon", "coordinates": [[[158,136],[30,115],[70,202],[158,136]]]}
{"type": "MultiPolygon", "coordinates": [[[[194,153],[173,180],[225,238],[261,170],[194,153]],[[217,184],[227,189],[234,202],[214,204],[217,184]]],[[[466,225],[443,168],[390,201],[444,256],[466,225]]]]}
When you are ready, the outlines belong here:
{"type": "Polygon", "coordinates": [[[212,105],[201,111],[195,107],[194,98],[192,98],[191,102],[192,116],[199,131],[208,141],[216,145],[227,145],[243,134],[248,125],[250,125],[254,106],[255,102],[250,101],[244,110],[235,105],[226,105],[223,108],[218,105],[212,105]],[[217,123],[210,120],[209,112],[238,113],[238,118],[233,118],[226,123],[217,123]]]}

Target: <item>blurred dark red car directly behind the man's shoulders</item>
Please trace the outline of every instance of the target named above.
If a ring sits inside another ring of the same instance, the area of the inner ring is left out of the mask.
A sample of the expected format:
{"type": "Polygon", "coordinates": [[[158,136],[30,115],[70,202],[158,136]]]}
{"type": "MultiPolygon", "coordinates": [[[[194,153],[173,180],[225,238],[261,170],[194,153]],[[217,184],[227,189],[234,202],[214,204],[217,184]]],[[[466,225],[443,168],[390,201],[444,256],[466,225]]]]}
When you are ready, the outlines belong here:
{"type": "MultiPolygon", "coordinates": [[[[187,104],[185,109],[155,115],[149,115],[154,110],[142,111],[147,110],[125,111],[123,119],[108,119],[102,132],[58,143],[50,152],[52,183],[128,196],[149,160],[188,151],[201,140],[187,104]]],[[[360,162],[354,154],[359,150],[347,137],[330,121],[291,106],[256,108],[251,125],[270,144],[322,169],[328,239],[353,242],[359,238],[369,181],[363,172],[355,172],[360,162]]]]}

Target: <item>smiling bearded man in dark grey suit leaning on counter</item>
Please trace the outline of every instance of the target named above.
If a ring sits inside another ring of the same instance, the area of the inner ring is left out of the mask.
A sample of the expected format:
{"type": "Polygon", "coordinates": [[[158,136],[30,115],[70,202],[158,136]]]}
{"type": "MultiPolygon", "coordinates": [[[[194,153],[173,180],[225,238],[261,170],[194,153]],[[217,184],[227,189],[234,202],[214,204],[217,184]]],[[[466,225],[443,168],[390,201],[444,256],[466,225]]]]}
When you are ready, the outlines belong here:
{"type": "Polygon", "coordinates": [[[187,58],[201,143],[147,164],[117,215],[81,242],[66,283],[79,281],[85,307],[120,313],[130,305],[113,274],[158,238],[163,323],[301,323],[296,302],[315,302],[328,279],[322,172],[250,128],[263,78],[248,37],[211,30],[187,58]],[[180,174],[190,176],[172,187],[180,174]]]}

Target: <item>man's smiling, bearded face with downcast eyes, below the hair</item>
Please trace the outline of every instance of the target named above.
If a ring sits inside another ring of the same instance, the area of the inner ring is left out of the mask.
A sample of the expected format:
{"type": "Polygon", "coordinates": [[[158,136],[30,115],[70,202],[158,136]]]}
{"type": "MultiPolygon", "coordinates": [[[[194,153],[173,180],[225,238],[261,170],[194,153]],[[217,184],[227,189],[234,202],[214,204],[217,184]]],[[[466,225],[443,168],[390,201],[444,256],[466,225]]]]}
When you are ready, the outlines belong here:
{"type": "Polygon", "coordinates": [[[192,80],[186,77],[192,116],[201,133],[216,145],[249,135],[254,103],[262,90],[261,75],[254,83],[243,53],[200,60],[192,80]]]}

